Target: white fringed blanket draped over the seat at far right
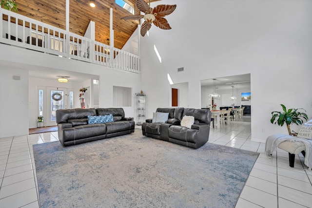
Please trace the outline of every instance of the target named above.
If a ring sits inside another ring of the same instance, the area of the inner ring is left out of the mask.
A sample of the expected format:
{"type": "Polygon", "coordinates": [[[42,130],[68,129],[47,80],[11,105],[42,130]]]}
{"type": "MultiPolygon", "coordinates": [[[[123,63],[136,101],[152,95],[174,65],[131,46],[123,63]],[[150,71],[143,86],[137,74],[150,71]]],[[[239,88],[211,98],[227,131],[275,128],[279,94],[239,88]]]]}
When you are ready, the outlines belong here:
{"type": "Polygon", "coordinates": [[[276,150],[277,146],[280,143],[288,140],[301,141],[305,144],[306,156],[304,158],[304,164],[309,167],[309,170],[312,170],[312,140],[287,134],[273,134],[267,138],[267,141],[265,143],[265,154],[271,157],[273,151],[276,150]]]}

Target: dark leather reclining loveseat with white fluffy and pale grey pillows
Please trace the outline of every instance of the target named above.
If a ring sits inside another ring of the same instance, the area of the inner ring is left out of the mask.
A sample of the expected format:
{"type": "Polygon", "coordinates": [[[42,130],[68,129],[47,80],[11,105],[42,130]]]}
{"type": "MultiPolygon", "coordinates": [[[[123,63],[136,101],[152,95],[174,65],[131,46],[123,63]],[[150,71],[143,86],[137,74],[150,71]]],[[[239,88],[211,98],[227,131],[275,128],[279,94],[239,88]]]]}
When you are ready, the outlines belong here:
{"type": "Polygon", "coordinates": [[[169,113],[168,120],[153,123],[153,119],[146,119],[142,124],[143,135],[194,149],[208,141],[211,122],[209,109],[157,108],[156,112],[169,113]],[[190,129],[180,125],[185,115],[194,116],[195,121],[190,129]]]}

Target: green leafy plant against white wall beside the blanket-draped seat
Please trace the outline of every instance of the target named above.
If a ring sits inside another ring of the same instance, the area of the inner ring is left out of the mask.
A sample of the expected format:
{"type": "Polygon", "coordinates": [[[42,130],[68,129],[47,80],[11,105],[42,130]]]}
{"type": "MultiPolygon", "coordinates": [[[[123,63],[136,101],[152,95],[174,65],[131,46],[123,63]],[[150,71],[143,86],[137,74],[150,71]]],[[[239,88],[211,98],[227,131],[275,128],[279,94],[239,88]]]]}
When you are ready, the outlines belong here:
{"type": "Polygon", "coordinates": [[[306,119],[307,121],[308,115],[306,113],[298,112],[298,110],[303,110],[304,112],[307,112],[307,111],[304,110],[303,108],[299,108],[299,109],[291,108],[291,109],[286,110],[286,107],[283,104],[280,104],[280,105],[283,108],[283,112],[273,111],[271,123],[274,123],[274,124],[277,123],[279,126],[283,126],[284,123],[286,123],[289,135],[296,136],[296,133],[292,133],[290,125],[291,124],[301,125],[303,123],[302,119],[306,119]]]}

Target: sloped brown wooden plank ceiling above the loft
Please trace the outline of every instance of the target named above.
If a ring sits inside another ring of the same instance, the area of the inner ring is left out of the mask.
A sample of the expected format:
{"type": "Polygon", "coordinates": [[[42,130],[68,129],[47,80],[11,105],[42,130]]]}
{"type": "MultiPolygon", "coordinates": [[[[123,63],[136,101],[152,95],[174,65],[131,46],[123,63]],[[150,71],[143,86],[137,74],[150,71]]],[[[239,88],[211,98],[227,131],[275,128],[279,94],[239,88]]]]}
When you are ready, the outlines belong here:
{"type": "MultiPolygon", "coordinates": [[[[84,36],[90,20],[95,22],[96,41],[108,44],[110,7],[113,8],[114,46],[121,49],[137,29],[138,20],[121,20],[121,17],[132,15],[115,0],[96,0],[96,7],[89,6],[89,0],[69,0],[69,31],[84,36]]],[[[131,5],[136,0],[126,0],[131,5]]],[[[148,2],[148,0],[145,0],[148,2]]],[[[157,0],[151,0],[151,2],[157,0]]],[[[65,30],[66,0],[16,0],[18,14],[36,19],[65,30]]],[[[135,14],[139,10],[135,7],[135,14]]]]}

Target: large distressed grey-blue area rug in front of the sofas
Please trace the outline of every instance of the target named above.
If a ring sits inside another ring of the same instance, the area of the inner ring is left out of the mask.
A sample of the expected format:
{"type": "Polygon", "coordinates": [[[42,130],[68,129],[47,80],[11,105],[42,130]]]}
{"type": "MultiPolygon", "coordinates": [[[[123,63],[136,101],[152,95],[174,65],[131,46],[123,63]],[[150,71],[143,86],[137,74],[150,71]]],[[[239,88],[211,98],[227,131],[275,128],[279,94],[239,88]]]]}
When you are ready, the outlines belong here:
{"type": "Polygon", "coordinates": [[[42,208],[233,208],[258,153],[134,133],[33,146],[42,208]]]}

